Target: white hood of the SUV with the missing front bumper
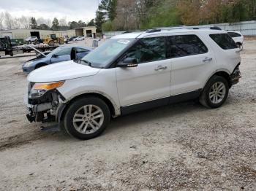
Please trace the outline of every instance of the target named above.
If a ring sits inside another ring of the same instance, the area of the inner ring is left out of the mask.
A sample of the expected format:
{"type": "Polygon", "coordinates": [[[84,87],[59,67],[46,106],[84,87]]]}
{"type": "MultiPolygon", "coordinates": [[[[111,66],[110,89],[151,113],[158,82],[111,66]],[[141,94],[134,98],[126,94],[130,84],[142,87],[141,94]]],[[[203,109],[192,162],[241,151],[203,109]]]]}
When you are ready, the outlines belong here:
{"type": "Polygon", "coordinates": [[[64,61],[53,63],[48,66],[32,71],[29,76],[29,82],[56,82],[79,77],[89,77],[97,74],[100,69],[91,68],[74,61],[64,61]]]}

